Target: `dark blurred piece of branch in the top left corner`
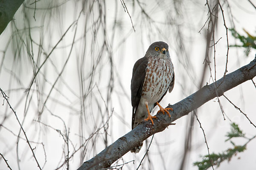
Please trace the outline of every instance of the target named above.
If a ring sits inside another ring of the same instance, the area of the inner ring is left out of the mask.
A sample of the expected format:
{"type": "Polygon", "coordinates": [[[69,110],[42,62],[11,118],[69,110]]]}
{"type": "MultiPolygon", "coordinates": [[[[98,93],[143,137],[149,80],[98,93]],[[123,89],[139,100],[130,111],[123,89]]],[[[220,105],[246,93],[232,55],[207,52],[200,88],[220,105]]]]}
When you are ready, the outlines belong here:
{"type": "Polygon", "coordinates": [[[0,0],[0,35],[24,0],[0,0]]]}

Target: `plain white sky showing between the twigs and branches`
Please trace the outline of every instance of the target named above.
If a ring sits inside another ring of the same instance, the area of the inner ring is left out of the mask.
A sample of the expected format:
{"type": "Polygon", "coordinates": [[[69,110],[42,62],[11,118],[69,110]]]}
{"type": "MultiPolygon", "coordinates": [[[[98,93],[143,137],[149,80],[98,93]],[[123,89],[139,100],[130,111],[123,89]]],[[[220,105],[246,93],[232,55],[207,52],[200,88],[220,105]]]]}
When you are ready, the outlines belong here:
{"type": "MultiPolygon", "coordinates": [[[[26,5],[29,6],[32,2],[34,1],[27,2],[26,5]]],[[[62,1],[55,1],[56,4],[62,5],[58,8],[53,8],[51,11],[47,11],[40,8],[47,8],[49,6],[47,5],[49,2],[47,0],[39,1],[35,12],[36,21],[33,19],[34,10],[25,8],[25,11],[29,11],[27,12],[27,14],[29,14],[27,17],[29,18],[31,26],[34,27],[31,31],[31,37],[38,44],[41,41],[46,54],[49,54],[53,46],[58,42],[70,24],[73,23],[75,20],[74,18],[78,17],[79,11],[81,10],[81,2],[64,2],[65,3],[62,4],[62,1]]],[[[148,23],[145,16],[143,17],[143,15],[140,14],[140,7],[137,5],[137,2],[135,3],[135,7],[133,7],[130,1],[125,1],[128,11],[131,14],[136,32],[133,31],[130,18],[128,14],[124,12],[121,2],[118,0],[105,2],[106,8],[103,10],[106,10],[106,36],[108,40],[107,43],[111,45],[110,49],[111,52],[113,52],[114,65],[114,88],[113,93],[111,94],[111,99],[107,103],[110,113],[113,109],[113,115],[110,118],[108,129],[108,145],[131,130],[132,107],[130,101],[130,85],[132,68],[137,59],[145,55],[145,51],[152,42],[161,40],[169,44],[172,62],[175,66],[174,90],[171,94],[167,93],[160,104],[164,107],[166,107],[168,103],[175,104],[198,90],[198,85],[201,82],[201,74],[205,57],[206,28],[201,31],[202,34],[199,34],[198,31],[207,20],[207,6],[204,6],[205,1],[197,1],[197,3],[184,1],[180,5],[182,6],[182,8],[180,8],[180,15],[177,15],[174,11],[173,2],[164,2],[165,3],[163,4],[163,2],[160,3],[152,0],[141,3],[146,12],[151,14],[150,17],[155,21],[155,23],[148,23]],[[115,20],[114,9],[116,9],[116,5],[118,8],[118,22],[115,28],[116,32],[114,38],[112,38],[112,34],[114,32],[113,21],[115,20]],[[173,18],[173,22],[166,24],[166,20],[171,20],[171,18],[173,18]],[[180,51],[178,49],[178,30],[183,37],[184,51],[180,51]],[[159,31],[162,34],[160,34],[159,31]],[[186,63],[189,63],[190,66],[188,67],[186,63]]],[[[228,2],[233,14],[236,30],[245,35],[242,30],[245,28],[250,34],[255,36],[255,8],[253,8],[247,0],[233,0],[228,2]]],[[[252,2],[256,5],[255,0],[252,0],[252,2]]],[[[54,4],[51,4],[50,6],[54,6],[54,4]]],[[[229,18],[230,15],[228,15],[230,14],[230,11],[227,9],[227,5],[223,5],[223,7],[227,27],[231,28],[232,24],[229,18]]],[[[26,23],[27,21],[24,18],[23,8],[24,7],[22,6],[15,14],[15,24],[20,30],[24,27],[28,28],[26,23]]],[[[32,8],[34,8],[34,6],[32,6],[32,8]]],[[[88,10],[88,8],[86,9],[88,10]]],[[[92,27],[92,25],[93,20],[95,21],[98,16],[98,8],[93,6],[94,12],[90,15],[88,15],[87,10],[81,14],[81,18],[78,20],[75,38],[76,43],[73,46],[70,59],[67,62],[67,66],[65,67],[63,74],[61,75],[61,79],[58,80],[55,88],[50,94],[49,100],[46,103],[46,107],[44,108],[40,119],[40,122],[65,133],[63,122],[56,116],[52,116],[51,113],[60,116],[64,120],[66,127],[70,128],[69,137],[76,149],[81,145],[79,140],[79,135],[81,134],[79,133],[79,128],[81,127],[80,113],[81,110],[83,111],[83,109],[81,109],[81,96],[88,92],[87,89],[90,82],[88,77],[90,75],[90,71],[93,69],[93,64],[99,64],[99,66],[96,67],[94,71],[95,76],[93,77],[92,83],[93,89],[89,90],[88,96],[84,101],[85,109],[83,114],[86,116],[86,121],[83,121],[84,138],[87,139],[91,133],[95,132],[95,124],[98,128],[107,120],[104,101],[108,101],[107,92],[108,82],[110,79],[110,62],[108,52],[105,50],[104,53],[100,55],[102,58],[97,56],[100,54],[100,51],[102,51],[101,46],[104,35],[102,33],[103,28],[100,27],[97,32],[97,37],[95,39],[93,37],[93,29],[95,27],[92,27]],[[85,23],[86,19],[89,20],[87,25],[85,23]],[[87,28],[86,37],[83,37],[84,28],[87,28]],[[84,61],[82,59],[84,59],[84,61]],[[80,69],[82,70],[81,72],[80,69]],[[81,75],[81,73],[83,73],[83,75],[81,75]],[[84,92],[81,92],[80,77],[83,77],[84,92]],[[99,90],[96,85],[99,87],[99,90]],[[72,91],[70,89],[72,89],[72,91]],[[100,103],[99,106],[97,105],[97,102],[100,103]],[[104,114],[103,120],[101,114],[104,114]]],[[[216,79],[220,79],[224,74],[227,53],[226,30],[223,26],[223,20],[220,12],[218,17],[218,31],[215,40],[218,40],[220,37],[222,38],[216,45],[216,79]]],[[[94,26],[97,26],[97,24],[94,26]]],[[[13,29],[15,30],[15,26],[13,23],[10,23],[5,32],[1,34],[0,51],[4,51],[6,49],[6,44],[11,38],[13,29]]],[[[6,57],[3,60],[3,68],[0,70],[0,88],[2,88],[10,97],[9,102],[17,112],[20,121],[24,119],[25,115],[25,90],[29,87],[29,83],[33,77],[32,62],[28,53],[26,53],[27,48],[24,47],[24,44],[30,44],[28,39],[29,31],[26,30],[20,31],[20,35],[24,40],[23,45],[17,34],[17,41],[13,41],[14,43],[20,43],[22,46],[21,50],[17,50],[15,45],[8,46],[6,50],[6,57]],[[13,50],[12,47],[17,51],[21,51],[20,58],[16,58],[14,60],[15,50],[13,50]],[[10,70],[13,71],[13,74],[10,73],[10,70]]],[[[65,154],[67,154],[67,148],[62,136],[59,135],[58,132],[52,130],[51,127],[46,127],[33,120],[38,119],[38,111],[41,111],[43,108],[44,101],[49,94],[51,85],[55,82],[58,77],[58,73],[61,72],[64,63],[69,56],[75,30],[75,26],[71,27],[63,41],[61,41],[50,55],[46,64],[42,67],[41,73],[36,79],[38,86],[34,84],[32,86],[32,91],[29,94],[29,97],[32,96],[32,102],[29,105],[29,110],[26,113],[25,121],[23,123],[23,128],[25,129],[29,140],[44,143],[47,154],[47,162],[44,169],[47,170],[55,169],[62,164],[64,161],[63,148],[65,150],[65,154]],[[41,95],[41,93],[44,95],[41,95]],[[38,99],[40,99],[39,102],[38,99]]],[[[230,45],[233,45],[235,43],[234,38],[231,36],[230,31],[228,34],[229,43],[230,45]]],[[[39,58],[40,61],[38,61],[38,63],[41,65],[45,59],[45,55],[39,51],[41,55],[38,57],[39,48],[35,44],[33,44],[32,48],[28,45],[28,48],[30,54],[32,54],[31,49],[33,49],[35,61],[39,58]]],[[[255,50],[252,50],[249,57],[245,57],[244,48],[230,48],[228,73],[248,64],[253,60],[255,52],[255,50]]],[[[3,59],[2,56],[3,52],[0,52],[1,62],[3,59]]],[[[212,74],[214,74],[214,66],[211,65],[211,67],[212,74]]],[[[256,79],[254,79],[254,81],[256,82],[256,79]]],[[[209,82],[209,68],[207,68],[207,75],[204,82],[204,85],[206,82],[212,83],[212,81],[209,82]]],[[[251,81],[245,82],[242,85],[231,89],[226,92],[225,95],[229,97],[229,99],[239,108],[241,108],[252,122],[256,122],[256,89],[251,81]]],[[[250,138],[256,135],[256,129],[250,125],[244,115],[236,110],[233,105],[227,102],[223,96],[220,97],[220,100],[227,116],[233,122],[239,124],[239,127],[241,127],[244,133],[246,133],[247,137],[250,138]]],[[[155,114],[156,111],[157,110],[154,110],[153,114],[155,114]]],[[[229,147],[232,147],[230,142],[224,142],[226,139],[225,135],[230,131],[230,121],[228,119],[225,121],[223,120],[217,99],[212,99],[207,102],[197,110],[197,113],[206,133],[210,153],[219,153],[229,147]]],[[[151,164],[148,163],[146,158],[143,161],[144,169],[149,169],[149,167],[155,170],[170,168],[174,170],[179,169],[180,162],[183,157],[189,116],[184,116],[181,119],[178,119],[175,121],[175,126],[170,126],[163,132],[155,134],[149,150],[151,164]],[[161,157],[159,153],[163,153],[163,157],[161,157]]],[[[4,103],[4,106],[0,106],[0,122],[16,135],[19,133],[20,128],[17,120],[9,107],[7,107],[6,102],[4,103]],[[8,116],[8,118],[2,122],[5,115],[8,116]]],[[[99,153],[105,148],[104,131],[101,130],[100,133],[100,135],[94,136],[92,140],[87,142],[87,154],[83,161],[92,158],[96,153],[99,153]],[[94,144],[93,141],[95,141],[94,144]]],[[[193,162],[201,160],[199,157],[200,155],[207,154],[204,136],[202,130],[199,128],[198,122],[196,121],[194,123],[192,133],[192,150],[188,160],[186,161],[185,169],[197,169],[197,167],[192,165],[193,162]]],[[[20,136],[24,138],[23,133],[21,133],[20,136]]],[[[148,142],[150,142],[150,140],[151,137],[148,139],[148,142]]],[[[239,153],[236,157],[233,157],[230,162],[224,161],[218,169],[254,170],[256,168],[255,140],[256,139],[247,145],[247,150],[243,153],[239,153]]],[[[236,144],[244,144],[246,142],[244,139],[234,139],[233,141],[236,144]]],[[[3,127],[0,129],[0,153],[5,156],[12,169],[18,169],[16,142],[17,136],[14,136],[10,131],[3,127]]],[[[34,143],[31,144],[33,148],[36,147],[35,154],[42,167],[45,159],[42,145],[34,143]]],[[[130,152],[126,153],[125,156],[123,156],[123,161],[127,162],[135,160],[135,163],[129,163],[123,167],[123,169],[136,169],[145,154],[145,150],[146,144],[144,142],[140,153],[136,155],[130,152]]],[[[72,146],[70,146],[70,153],[73,153],[72,146]]],[[[71,170],[75,170],[81,165],[80,154],[81,150],[79,150],[70,160],[71,170]]],[[[26,141],[22,139],[19,140],[18,155],[20,159],[20,169],[37,169],[35,160],[32,158],[32,153],[29,150],[26,141]]],[[[119,164],[121,163],[122,161],[119,161],[119,164]]],[[[143,167],[141,167],[141,169],[143,169],[143,167]]],[[[2,169],[5,170],[7,167],[3,159],[0,159],[0,170],[2,169]]]]}

